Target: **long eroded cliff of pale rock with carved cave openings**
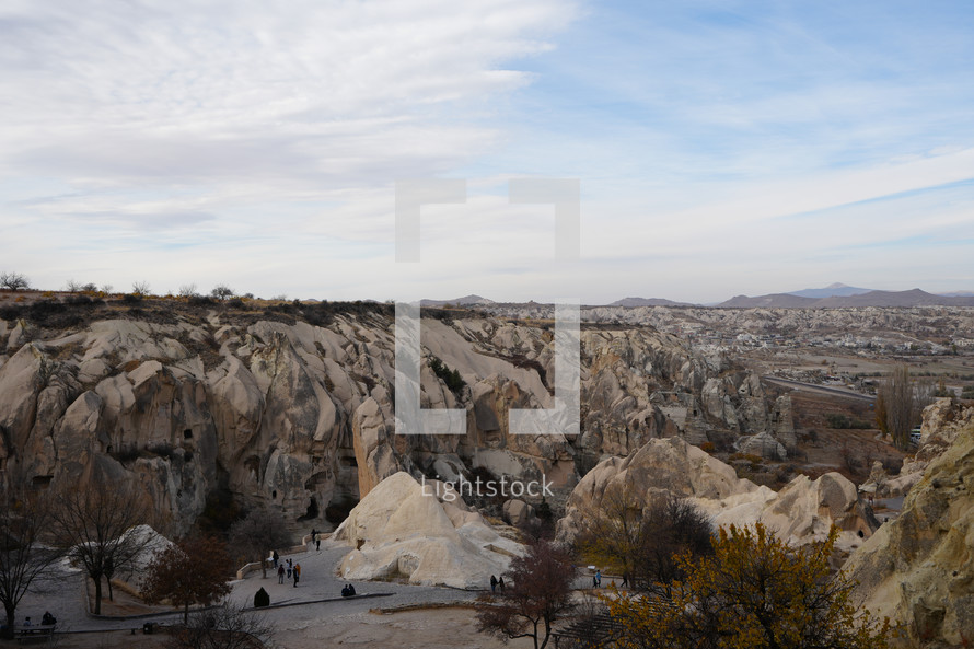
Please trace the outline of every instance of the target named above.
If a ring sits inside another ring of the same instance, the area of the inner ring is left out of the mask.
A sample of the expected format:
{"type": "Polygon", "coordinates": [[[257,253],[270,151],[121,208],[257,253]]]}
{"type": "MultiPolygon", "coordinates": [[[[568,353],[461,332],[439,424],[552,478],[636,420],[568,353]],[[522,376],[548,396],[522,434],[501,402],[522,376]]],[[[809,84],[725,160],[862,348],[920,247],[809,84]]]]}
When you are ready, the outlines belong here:
{"type": "Polygon", "coordinates": [[[604,455],[657,437],[694,443],[770,430],[787,403],[718,355],[651,327],[584,326],[582,433],[508,434],[510,407],[552,396],[549,324],[432,312],[425,407],[467,412],[465,437],[403,437],[384,304],[55,300],[0,312],[0,464],[38,485],[137,482],[185,529],[208,498],[340,522],[398,471],[454,479],[542,473],[564,496],[604,455]]]}

